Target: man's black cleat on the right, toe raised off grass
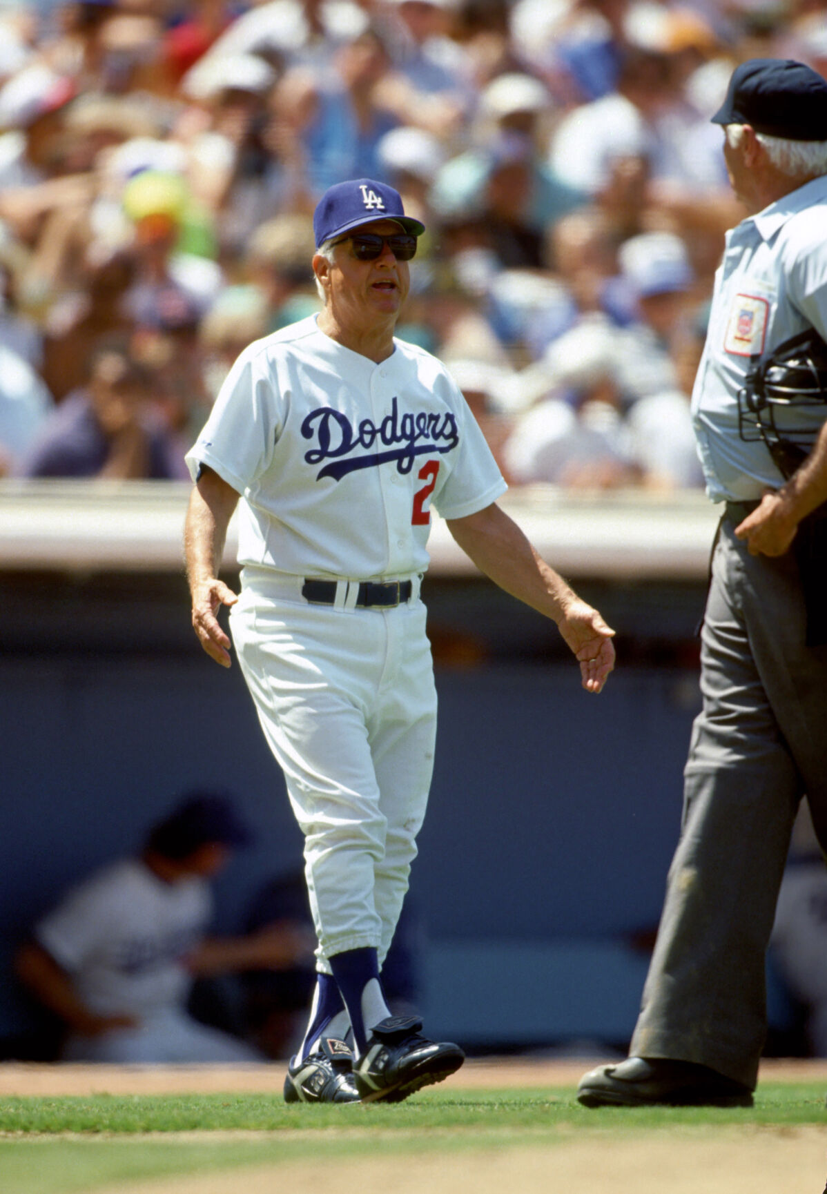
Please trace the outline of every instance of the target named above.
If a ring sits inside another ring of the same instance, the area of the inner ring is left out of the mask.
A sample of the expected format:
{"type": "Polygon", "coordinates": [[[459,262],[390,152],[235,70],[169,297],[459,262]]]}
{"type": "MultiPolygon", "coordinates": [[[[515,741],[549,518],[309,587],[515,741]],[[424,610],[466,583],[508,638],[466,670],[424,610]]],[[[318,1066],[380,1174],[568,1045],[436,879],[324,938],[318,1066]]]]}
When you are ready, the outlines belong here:
{"type": "Polygon", "coordinates": [[[465,1060],[459,1045],[429,1041],[421,1028],[416,1016],[388,1016],[375,1026],[365,1054],[354,1063],[363,1103],[399,1103],[459,1070],[465,1060]]]}

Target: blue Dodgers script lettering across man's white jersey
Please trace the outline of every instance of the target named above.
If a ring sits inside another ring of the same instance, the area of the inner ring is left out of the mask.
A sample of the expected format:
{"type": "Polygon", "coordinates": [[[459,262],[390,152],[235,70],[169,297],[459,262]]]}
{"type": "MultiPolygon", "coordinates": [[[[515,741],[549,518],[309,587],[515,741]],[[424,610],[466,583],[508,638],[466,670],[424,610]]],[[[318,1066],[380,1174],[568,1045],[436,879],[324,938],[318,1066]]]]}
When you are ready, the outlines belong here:
{"type": "Polygon", "coordinates": [[[396,461],[399,473],[410,473],[417,456],[451,451],[459,443],[453,414],[421,411],[400,416],[396,398],[379,426],[372,419],[362,419],[354,426],[347,414],[320,406],[305,418],[301,433],[305,439],[314,438],[318,445],[305,453],[308,464],[331,461],[319,469],[317,481],[323,476],[338,481],[356,469],[375,468],[388,461],[396,461]]]}

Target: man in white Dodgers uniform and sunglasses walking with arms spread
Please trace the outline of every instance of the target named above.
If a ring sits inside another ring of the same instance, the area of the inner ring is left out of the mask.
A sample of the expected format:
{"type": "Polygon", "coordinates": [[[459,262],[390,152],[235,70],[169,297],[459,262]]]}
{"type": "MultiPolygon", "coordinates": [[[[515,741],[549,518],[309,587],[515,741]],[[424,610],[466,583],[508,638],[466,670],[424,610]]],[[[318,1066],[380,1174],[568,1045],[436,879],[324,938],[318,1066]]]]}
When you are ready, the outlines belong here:
{"type": "Polygon", "coordinates": [[[436,698],[419,585],[431,510],[497,584],[553,618],[599,693],[611,630],[497,506],[506,490],[447,370],[393,332],[424,227],[372,179],[314,214],[318,316],[251,344],[188,464],[192,624],[235,653],[305,836],[318,935],[288,1101],[398,1101],[462,1063],[392,1017],[381,987],[434,759],[436,698]],[[218,572],[239,504],[241,592],[218,572]]]}

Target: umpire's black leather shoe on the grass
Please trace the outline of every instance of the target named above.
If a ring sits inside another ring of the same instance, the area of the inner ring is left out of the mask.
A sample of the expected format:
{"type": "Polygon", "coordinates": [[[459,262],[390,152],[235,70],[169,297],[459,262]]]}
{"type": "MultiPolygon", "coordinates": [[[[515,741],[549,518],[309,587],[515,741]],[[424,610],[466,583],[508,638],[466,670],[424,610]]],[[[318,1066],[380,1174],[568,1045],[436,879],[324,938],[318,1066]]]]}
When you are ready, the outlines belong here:
{"type": "Polygon", "coordinates": [[[630,1057],[586,1073],[577,1102],[583,1107],[752,1107],[753,1095],[748,1087],[706,1065],[630,1057]]]}

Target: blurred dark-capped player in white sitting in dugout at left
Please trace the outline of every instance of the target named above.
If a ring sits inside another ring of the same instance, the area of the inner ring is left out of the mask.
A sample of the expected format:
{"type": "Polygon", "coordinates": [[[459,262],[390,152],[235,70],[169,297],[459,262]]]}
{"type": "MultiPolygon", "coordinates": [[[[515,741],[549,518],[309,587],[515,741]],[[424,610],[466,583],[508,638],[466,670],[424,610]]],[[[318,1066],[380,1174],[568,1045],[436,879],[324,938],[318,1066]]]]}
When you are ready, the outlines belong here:
{"type": "Polygon", "coordinates": [[[188,1011],[198,977],[312,965],[312,936],[290,923],[244,937],[207,935],[210,880],[251,842],[228,798],[189,793],[151,826],[136,857],[97,870],[35,925],[16,971],[61,1021],[62,1060],[261,1059],[246,1041],[188,1011]]]}

